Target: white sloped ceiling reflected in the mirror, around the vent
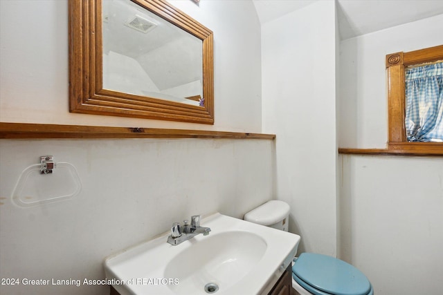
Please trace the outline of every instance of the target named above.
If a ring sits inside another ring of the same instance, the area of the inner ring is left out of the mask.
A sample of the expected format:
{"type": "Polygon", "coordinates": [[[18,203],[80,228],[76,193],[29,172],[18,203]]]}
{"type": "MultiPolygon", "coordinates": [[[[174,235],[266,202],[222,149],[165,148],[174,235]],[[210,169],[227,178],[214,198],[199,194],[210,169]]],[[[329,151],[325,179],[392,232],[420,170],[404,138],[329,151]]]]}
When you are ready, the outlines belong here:
{"type": "Polygon", "coordinates": [[[159,91],[201,79],[200,39],[129,0],[103,1],[102,13],[104,53],[135,59],[159,91]],[[149,32],[138,32],[127,26],[134,18],[155,26],[149,32]]]}

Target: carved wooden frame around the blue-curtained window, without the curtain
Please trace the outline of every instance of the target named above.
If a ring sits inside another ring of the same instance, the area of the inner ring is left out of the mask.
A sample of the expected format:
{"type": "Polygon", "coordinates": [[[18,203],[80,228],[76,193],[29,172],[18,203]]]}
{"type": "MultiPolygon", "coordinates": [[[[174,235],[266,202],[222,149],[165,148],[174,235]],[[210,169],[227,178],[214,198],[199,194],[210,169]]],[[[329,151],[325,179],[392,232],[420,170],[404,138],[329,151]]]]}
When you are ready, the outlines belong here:
{"type": "Polygon", "coordinates": [[[407,66],[443,59],[443,45],[408,53],[386,55],[388,73],[388,150],[397,153],[443,155],[443,142],[408,142],[405,129],[405,81],[407,66]]]}

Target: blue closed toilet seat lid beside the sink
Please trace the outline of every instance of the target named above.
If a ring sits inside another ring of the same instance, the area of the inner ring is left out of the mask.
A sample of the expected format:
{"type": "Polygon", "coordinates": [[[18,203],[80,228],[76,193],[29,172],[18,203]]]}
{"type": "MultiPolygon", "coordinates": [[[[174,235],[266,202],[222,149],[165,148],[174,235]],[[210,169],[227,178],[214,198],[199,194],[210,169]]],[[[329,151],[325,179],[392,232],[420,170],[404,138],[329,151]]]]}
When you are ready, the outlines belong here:
{"type": "Polygon", "coordinates": [[[298,277],[306,283],[303,285],[308,285],[307,290],[314,294],[319,290],[334,295],[368,295],[372,290],[368,278],[359,269],[323,254],[300,254],[293,264],[292,272],[294,279],[298,277]]]}

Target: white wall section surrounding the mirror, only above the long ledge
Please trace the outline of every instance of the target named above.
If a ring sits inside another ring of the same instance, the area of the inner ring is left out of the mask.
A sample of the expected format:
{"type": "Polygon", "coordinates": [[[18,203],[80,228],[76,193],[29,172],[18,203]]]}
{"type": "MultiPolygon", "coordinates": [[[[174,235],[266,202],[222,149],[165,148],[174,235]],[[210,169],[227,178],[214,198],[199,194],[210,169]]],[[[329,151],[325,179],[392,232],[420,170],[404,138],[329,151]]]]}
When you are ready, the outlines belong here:
{"type": "Polygon", "coordinates": [[[260,23],[253,3],[170,2],[214,32],[213,126],[67,113],[67,0],[0,1],[0,121],[259,133],[260,23]]]}

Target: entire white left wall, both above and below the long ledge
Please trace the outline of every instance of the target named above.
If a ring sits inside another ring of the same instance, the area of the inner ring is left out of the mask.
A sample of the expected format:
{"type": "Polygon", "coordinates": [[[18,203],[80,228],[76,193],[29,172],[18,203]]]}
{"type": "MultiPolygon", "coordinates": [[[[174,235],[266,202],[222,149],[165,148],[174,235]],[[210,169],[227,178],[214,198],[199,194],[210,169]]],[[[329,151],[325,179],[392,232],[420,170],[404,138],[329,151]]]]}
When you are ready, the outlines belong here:
{"type": "MultiPolygon", "coordinates": [[[[214,126],[69,113],[62,0],[0,1],[0,121],[260,132],[253,4],[176,2],[215,34],[214,126]]],[[[104,278],[106,256],[172,222],[214,211],[242,218],[273,196],[274,154],[268,140],[0,140],[0,277],[104,278]],[[64,202],[15,207],[17,178],[40,155],[77,167],[82,191],[64,202]]],[[[31,293],[105,295],[109,288],[0,285],[0,294],[31,293]]]]}

